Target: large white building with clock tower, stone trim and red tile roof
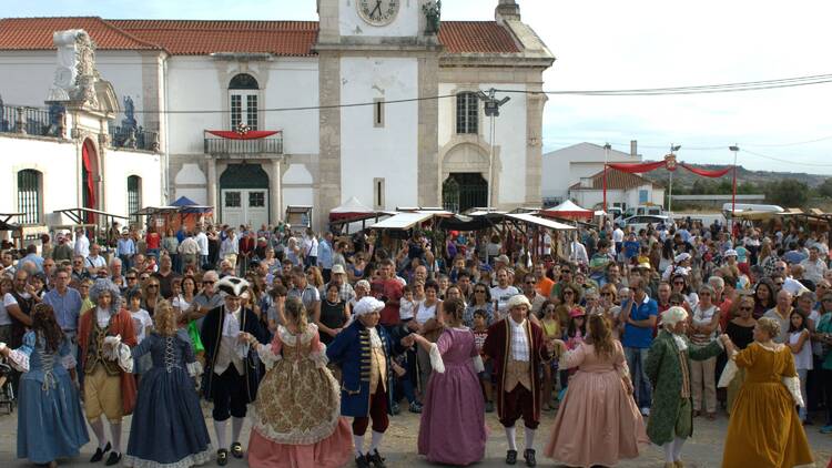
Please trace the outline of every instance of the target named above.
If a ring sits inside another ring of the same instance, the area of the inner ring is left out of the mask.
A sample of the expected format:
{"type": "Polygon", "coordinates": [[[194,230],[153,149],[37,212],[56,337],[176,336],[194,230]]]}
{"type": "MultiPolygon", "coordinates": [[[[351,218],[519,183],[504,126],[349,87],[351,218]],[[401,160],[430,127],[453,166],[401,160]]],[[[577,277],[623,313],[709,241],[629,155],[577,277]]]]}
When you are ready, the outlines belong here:
{"type": "Polygon", "coordinates": [[[43,106],[52,32],[84,29],[159,142],[163,202],[214,205],[232,225],[308,205],[319,228],[351,196],[379,210],[540,203],[536,92],[555,59],[514,0],[495,21],[438,24],[432,0],[317,3],[319,21],[0,20],[0,95],[43,106]],[[491,88],[510,98],[494,135],[477,98],[491,88]],[[243,126],[275,133],[227,138],[243,126]]]}

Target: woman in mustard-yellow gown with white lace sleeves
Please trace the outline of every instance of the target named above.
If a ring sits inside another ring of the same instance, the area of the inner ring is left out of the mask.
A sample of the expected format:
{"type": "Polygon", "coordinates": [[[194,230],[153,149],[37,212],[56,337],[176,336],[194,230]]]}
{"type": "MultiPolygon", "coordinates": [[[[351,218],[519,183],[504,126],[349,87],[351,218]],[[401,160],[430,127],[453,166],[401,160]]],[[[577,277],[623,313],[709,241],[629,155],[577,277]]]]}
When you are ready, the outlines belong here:
{"type": "Polygon", "coordinates": [[[754,343],[734,354],[737,367],[745,369],[726,436],[722,466],[790,468],[812,462],[806,434],[794,409],[800,383],[791,349],[775,344],[780,324],[760,318],[754,343]]]}

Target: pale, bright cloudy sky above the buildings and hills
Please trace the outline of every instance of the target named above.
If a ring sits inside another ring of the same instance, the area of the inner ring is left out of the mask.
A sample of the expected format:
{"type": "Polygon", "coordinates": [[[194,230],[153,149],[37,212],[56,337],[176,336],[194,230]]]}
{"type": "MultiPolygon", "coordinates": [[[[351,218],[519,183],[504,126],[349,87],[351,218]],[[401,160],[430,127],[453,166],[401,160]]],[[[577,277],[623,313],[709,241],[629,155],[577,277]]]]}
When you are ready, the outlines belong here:
{"type": "MultiPolygon", "coordinates": [[[[416,1],[416,0],[403,0],[416,1]]],[[[317,20],[315,0],[30,0],[7,17],[317,20]]],[[[703,85],[832,73],[832,2],[518,0],[557,58],[546,90],[703,85]]],[[[444,0],[443,19],[491,20],[497,0],[444,0]]],[[[544,151],[580,142],[646,159],[832,175],[832,83],[670,96],[550,95],[544,151]],[[820,141],[818,141],[820,140],[820,141]],[[810,142],[812,141],[812,142],[810,142]],[[810,143],[808,143],[810,142],[810,143]],[[751,151],[755,154],[751,154],[751,151]]]]}

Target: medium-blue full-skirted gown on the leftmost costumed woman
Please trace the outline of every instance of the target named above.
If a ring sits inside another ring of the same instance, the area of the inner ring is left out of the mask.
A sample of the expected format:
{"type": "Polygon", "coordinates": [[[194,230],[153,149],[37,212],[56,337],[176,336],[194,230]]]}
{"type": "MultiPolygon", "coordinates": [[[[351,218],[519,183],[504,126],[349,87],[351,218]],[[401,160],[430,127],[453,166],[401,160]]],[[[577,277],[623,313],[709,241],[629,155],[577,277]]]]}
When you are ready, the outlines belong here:
{"type": "Polygon", "coordinates": [[[29,370],[20,377],[18,390],[18,458],[48,464],[78,456],[90,441],[78,389],[63,366],[71,349],[64,339],[57,353],[48,353],[45,340],[34,332],[28,332],[17,349],[29,357],[29,370]]]}

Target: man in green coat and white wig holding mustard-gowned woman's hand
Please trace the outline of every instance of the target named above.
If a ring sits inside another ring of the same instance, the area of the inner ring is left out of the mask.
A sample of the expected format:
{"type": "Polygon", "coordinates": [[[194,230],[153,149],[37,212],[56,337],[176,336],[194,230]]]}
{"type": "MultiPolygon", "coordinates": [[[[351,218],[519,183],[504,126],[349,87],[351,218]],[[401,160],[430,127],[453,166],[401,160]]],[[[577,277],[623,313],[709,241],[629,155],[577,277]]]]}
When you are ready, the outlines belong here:
{"type": "Polygon", "coordinates": [[[653,339],[645,374],[653,387],[653,401],[647,435],[664,450],[664,468],[680,468],[682,445],[693,434],[693,406],[690,397],[690,360],[718,356],[733,346],[728,335],[707,346],[696,346],[684,335],[688,312],[670,307],[661,314],[662,330],[653,339]]]}

